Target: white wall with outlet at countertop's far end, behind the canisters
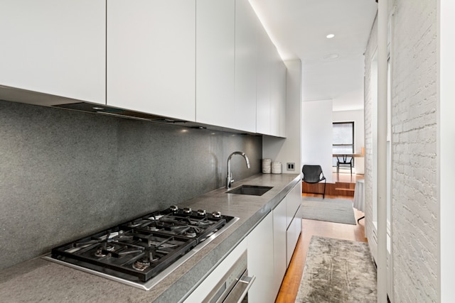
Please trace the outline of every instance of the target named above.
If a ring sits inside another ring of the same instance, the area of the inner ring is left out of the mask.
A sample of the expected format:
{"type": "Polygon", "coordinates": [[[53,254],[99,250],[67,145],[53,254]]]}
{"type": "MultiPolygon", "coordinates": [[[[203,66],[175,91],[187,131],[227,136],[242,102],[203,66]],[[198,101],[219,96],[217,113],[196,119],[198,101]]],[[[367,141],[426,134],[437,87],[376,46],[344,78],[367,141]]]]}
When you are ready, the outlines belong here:
{"type": "Polygon", "coordinates": [[[301,172],[301,61],[286,61],[287,66],[287,138],[264,136],[262,158],[282,162],[282,172],[301,172]],[[294,170],[287,170],[286,163],[295,163],[294,170]]]}

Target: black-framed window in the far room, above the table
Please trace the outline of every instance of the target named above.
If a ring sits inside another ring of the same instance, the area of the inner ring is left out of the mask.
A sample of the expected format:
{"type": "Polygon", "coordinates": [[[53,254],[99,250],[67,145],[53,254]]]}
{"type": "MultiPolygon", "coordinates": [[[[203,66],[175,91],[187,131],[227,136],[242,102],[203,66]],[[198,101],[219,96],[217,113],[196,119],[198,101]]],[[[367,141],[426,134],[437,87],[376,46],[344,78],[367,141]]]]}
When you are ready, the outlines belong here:
{"type": "MultiPolygon", "coordinates": [[[[354,122],[333,122],[333,146],[334,154],[354,153],[354,122]]],[[[333,158],[333,166],[336,166],[336,158],[333,158]]]]}

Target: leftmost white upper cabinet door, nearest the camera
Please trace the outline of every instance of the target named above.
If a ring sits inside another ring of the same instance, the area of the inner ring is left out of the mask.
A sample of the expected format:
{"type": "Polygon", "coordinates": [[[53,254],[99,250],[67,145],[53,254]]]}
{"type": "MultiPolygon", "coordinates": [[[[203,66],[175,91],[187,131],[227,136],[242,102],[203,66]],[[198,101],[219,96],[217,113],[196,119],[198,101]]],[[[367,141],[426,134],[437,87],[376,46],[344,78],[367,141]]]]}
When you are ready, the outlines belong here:
{"type": "Polygon", "coordinates": [[[105,0],[0,1],[0,85],[105,104],[105,0]]]}

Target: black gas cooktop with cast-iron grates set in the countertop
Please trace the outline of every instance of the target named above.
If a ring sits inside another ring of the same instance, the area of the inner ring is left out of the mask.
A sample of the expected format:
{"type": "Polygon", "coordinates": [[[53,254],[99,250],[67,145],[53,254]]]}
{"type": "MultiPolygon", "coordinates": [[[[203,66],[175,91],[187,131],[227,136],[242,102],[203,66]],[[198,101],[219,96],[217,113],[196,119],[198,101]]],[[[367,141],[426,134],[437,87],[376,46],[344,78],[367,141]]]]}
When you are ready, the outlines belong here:
{"type": "Polygon", "coordinates": [[[237,220],[171,206],[53,248],[44,258],[150,290],[237,220]]]}

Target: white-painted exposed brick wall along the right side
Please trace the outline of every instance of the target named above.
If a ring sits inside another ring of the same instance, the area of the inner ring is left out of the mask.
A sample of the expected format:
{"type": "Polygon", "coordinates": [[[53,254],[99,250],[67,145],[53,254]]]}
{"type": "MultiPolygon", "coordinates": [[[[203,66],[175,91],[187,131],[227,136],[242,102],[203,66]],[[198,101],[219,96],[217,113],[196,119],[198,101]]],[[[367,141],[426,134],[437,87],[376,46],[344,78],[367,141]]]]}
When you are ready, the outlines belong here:
{"type": "MultiPolygon", "coordinates": [[[[437,302],[437,0],[391,1],[393,302],[437,302]]],[[[370,65],[365,53],[365,207],[372,216],[370,65]]],[[[367,221],[368,225],[369,222],[367,221]]],[[[367,226],[367,236],[371,234],[367,226]]]]}

